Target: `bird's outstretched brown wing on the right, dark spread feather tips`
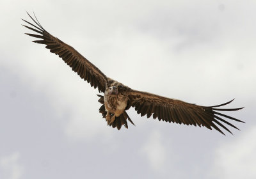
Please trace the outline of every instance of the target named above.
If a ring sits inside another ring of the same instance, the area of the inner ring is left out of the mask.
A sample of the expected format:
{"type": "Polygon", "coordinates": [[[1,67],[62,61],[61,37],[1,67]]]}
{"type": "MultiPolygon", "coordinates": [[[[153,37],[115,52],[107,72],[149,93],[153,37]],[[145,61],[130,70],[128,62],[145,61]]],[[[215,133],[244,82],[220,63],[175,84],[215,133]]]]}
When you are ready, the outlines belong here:
{"type": "MultiPolygon", "coordinates": [[[[236,118],[232,118],[230,116],[217,112],[237,111],[239,109],[243,109],[243,107],[234,109],[218,108],[220,106],[229,104],[233,100],[225,104],[206,107],[196,104],[189,104],[181,100],[161,97],[151,93],[135,91],[133,89],[128,92],[128,97],[129,102],[127,109],[129,109],[129,107],[131,106],[135,107],[135,110],[138,114],[141,114],[141,116],[145,116],[147,114],[147,118],[150,118],[150,116],[153,114],[153,118],[158,118],[159,121],[163,120],[166,122],[175,122],[179,124],[184,123],[186,125],[198,125],[199,127],[201,127],[202,125],[209,129],[213,127],[221,132],[221,134],[224,133],[220,130],[219,127],[224,128],[228,132],[230,132],[230,130],[228,130],[228,128],[220,122],[237,128],[223,118],[243,122],[241,120],[237,120],[236,118]]],[[[232,132],[230,133],[232,134],[232,132]]]]}

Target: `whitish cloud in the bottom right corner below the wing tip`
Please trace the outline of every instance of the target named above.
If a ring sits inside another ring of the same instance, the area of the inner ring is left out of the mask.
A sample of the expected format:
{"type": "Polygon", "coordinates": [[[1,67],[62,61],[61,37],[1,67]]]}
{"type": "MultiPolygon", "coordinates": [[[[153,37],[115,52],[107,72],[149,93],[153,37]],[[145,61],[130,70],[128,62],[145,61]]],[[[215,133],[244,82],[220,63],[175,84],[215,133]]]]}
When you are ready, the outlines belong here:
{"type": "Polygon", "coordinates": [[[255,178],[256,127],[251,128],[236,141],[216,149],[211,175],[214,178],[255,178]]]}

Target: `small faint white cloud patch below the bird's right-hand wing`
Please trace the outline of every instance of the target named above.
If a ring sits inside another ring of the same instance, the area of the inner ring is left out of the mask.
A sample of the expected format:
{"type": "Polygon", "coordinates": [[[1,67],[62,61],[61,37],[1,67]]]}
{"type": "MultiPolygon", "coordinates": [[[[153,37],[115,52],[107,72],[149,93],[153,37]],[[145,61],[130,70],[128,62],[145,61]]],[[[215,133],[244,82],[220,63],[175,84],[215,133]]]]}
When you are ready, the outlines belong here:
{"type": "Polygon", "coordinates": [[[155,130],[148,137],[148,141],[143,144],[141,152],[145,153],[152,169],[161,172],[166,162],[166,148],[163,144],[161,133],[155,130]]]}

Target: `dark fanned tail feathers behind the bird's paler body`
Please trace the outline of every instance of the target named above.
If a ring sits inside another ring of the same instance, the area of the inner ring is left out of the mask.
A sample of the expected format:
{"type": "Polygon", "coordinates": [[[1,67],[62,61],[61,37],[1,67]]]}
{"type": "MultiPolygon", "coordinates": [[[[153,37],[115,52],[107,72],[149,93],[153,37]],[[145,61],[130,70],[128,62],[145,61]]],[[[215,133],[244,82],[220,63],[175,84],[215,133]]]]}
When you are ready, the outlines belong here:
{"type": "MultiPolygon", "coordinates": [[[[99,112],[102,114],[102,118],[106,119],[107,111],[106,111],[105,105],[104,105],[104,97],[102,95],[97,95],[97,96],[100,97],[100,99],[98,101],[100,104],[102,104],[102,106],[99,109],[99,112]]],[[[124,111],[124,113],[122,113],[120,116],[116,117],[115,121],[113,121],[113,123],[111,123],[109,126],[112,126],[113,128],[116,127],[118,130],[120,130],[122,125],[124,125],[125,128],[128,128],[127,119],[134,125],[131,118],[128,116],[126,111],[124,111]]]]}

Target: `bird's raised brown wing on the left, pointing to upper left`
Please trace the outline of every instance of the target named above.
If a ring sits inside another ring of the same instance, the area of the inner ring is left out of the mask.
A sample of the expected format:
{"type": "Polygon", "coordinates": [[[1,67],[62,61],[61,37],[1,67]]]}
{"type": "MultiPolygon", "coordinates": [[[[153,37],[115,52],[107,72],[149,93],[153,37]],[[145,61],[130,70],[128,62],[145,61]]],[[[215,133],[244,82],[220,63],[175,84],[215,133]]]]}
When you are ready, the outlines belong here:
{"type": "Polygon", "coordinates": [[[34,40],[33,42],[46,45],[45,48],[50,49],[50,52],[62,58],[63,61],[65,61],[65,63],[67,63],[67,65],[70,66],[74,72],[76,72],[82,79],[84,79],[84,81],[90,82],[91,86],[93,86],[94,88],[98,88],[100,92],[104,93],[107,81],[106,75],[104,75],[99,70],[99,68],[90,63],[88,59],[84,58],[81,54],[79,54],[79,52],[77,52],[73,47],[62,42],[58,38],[52,36],[50,33],[45,31],[45,29],[41,26],[36,17],[35,19],[33,19],[31,15],[29,15],[29,17],[33,20],[33,22],[35,22],[35,24],[32,24],[27,20],[22,19],[27,22],[30,27],[25,25],[22,26],[27,27],[32,31],[35,31],[39,35],[31,33],[26,33],[26,35],[41,38],[42,40],[34,40]]]}

